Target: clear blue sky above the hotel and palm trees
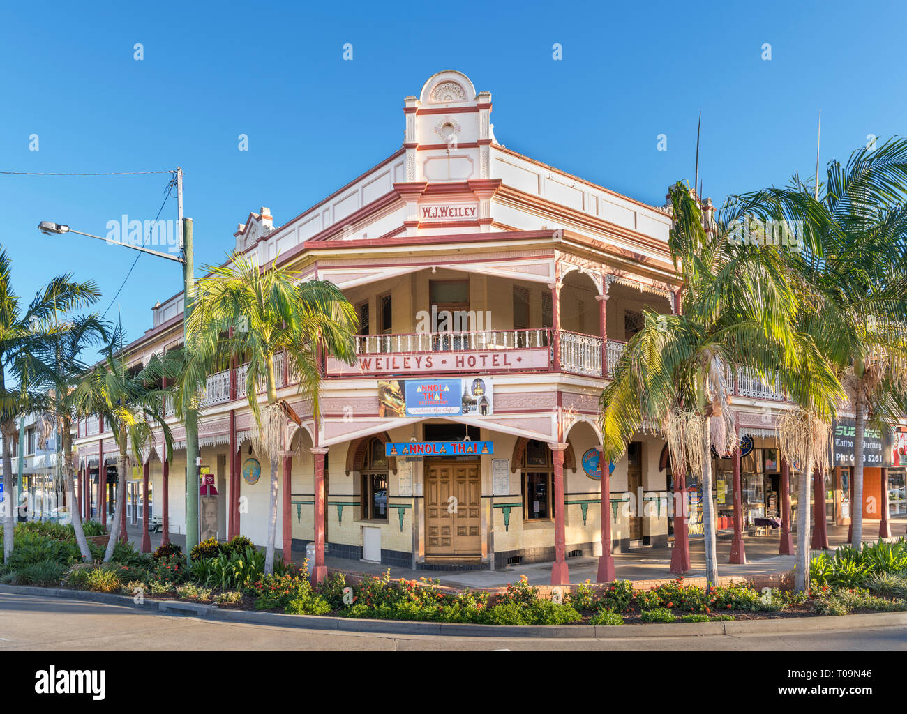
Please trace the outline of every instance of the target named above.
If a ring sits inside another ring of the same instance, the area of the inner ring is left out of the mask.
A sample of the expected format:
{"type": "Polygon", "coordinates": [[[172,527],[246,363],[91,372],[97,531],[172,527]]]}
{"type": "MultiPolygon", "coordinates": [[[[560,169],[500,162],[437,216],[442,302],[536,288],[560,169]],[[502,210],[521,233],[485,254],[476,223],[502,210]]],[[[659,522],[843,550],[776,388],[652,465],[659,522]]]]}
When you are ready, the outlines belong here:
{"type": "MultiPolygon", "coordinates": [[[[658,205],[670,183],[692,182],[700,110],[700,177],[717,205],[795,170],[812,176],[820,107],[823,166],[869,133],[907,133],[903,4],[141,7],[5,4],[0,170],[180,165],[199,267],[223,260],[249,211],[270,207],[282,225],[399,148],[403,98],[442,69],[492,92],[507,147],[658,205]],[[237,148],[241,133],[248,151],[237,148]],[[658,134],[667,151],[656,150],[658,134]]],[[[150,220],[166,182],[0,176],[0,242],[16,290],[30,296],[72,271],[100,284],[105,309],[137,254],[35,225],[104,235],[122,214],[150,220]]],[[[171,199],[162,217],[175,215],[171,199]]],[[[108,317],[122,308],[127,338],[141,336],[151,305],[180,280],[179,265],[142,256],[108,317]]]]}

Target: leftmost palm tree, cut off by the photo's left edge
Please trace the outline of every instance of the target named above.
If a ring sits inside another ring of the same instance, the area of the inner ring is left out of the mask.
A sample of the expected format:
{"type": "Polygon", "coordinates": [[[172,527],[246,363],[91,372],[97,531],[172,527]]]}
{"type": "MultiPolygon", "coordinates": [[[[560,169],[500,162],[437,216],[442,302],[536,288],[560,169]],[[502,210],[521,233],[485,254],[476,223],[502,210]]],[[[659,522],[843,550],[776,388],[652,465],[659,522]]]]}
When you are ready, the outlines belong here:
{"type": "MultiPolygon", "coordinates": [[[[16,420],[35,399],[30,394],[30,373],[25,366],[28,355],[41,348],[50,331],[54,314],[67,314],[100,296],[93,281],[76,283],[72,274],[58,275],[23,307],[13,289],[13,263],[0,248],[0,433],[3,434],[3,473],[11,504],[13,479],[13,439],[18,436],[16,420]],[[15,387],[7,385],[7,371],[18,377],[15,387]]],[[[34,396],[34,395],[33,395],[34,396]]],[[[21,458],[21,457],[20,457],[21,458]]],[[[5,508],[4,560],[13,552],[15,516],[13,507],[5,508]]]]}

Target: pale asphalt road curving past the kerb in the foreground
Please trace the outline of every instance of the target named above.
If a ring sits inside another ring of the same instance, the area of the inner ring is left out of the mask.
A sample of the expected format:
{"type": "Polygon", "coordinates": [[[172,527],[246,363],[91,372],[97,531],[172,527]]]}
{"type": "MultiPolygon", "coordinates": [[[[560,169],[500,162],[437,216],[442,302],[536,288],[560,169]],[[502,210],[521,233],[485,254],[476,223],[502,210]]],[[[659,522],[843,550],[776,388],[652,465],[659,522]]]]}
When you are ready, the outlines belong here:
{"type": "Polygon", "coordinates": [[[324,632],[0,593],[0,651],[907,651],[907,625],[697,637],[529,639],[324,632]]]}

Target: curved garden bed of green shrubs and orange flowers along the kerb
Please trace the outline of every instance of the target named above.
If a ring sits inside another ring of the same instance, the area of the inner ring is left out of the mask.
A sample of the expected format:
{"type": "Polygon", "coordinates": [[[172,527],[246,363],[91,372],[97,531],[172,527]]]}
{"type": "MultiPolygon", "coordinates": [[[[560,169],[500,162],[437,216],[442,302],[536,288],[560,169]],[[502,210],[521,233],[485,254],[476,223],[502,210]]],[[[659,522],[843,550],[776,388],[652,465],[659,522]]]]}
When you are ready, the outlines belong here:
{"type": "Polygon", "coordinates": [[[815,562],[813,593],[806,597],[784,587],[758,587],[764,582],[789,585],[789,574],[762,576],[757,583],[722,579],[708,593],[704,583],[683,578],[644,584],[587,581],[559,588],[532,586],[525,576],[504,588],[456,590],[430,578],[391,580],[389,572],[377,577],[331,571],[324,582],[312,585],[305,564],[278,561],[274,574],[265,575],[264,555],[242,536],[229,543],[205,541],[188,562],[178,545],[163,545],[151,556],[119,543],[112,563],[101,564],[102,550],[93,547],[98,560],[83,564],[78,547],[58,540],[59,535],[17,527],[14,555],[0,569],[0,583],[178,599],[229,610],[412,622],[619,625],[907,611],[907,547],[902,541],[815,562]]]}

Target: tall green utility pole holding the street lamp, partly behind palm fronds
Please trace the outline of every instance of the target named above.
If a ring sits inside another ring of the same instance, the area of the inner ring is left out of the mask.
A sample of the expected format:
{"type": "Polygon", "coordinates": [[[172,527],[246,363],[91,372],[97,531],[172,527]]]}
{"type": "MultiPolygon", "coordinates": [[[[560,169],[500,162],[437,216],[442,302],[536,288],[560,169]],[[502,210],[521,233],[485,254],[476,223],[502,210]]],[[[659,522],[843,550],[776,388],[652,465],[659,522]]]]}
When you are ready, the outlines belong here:
{"type": "MultiPolygon", "coordinates": [[[[181,227],[183,291],[182,291],[182,342],[189,349],[189,333],[186,325],[195,300],[194,261],[192,259],[192,219],[182,216],[182,169],[176,169],[177,214],[181,227]]],[[[199,412],[195,408],[186,410],[186,559],[192,548],[199,545],[199,412]]],[[[167,495],[164,494],[166,498],[167,495]]]]}

